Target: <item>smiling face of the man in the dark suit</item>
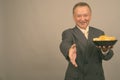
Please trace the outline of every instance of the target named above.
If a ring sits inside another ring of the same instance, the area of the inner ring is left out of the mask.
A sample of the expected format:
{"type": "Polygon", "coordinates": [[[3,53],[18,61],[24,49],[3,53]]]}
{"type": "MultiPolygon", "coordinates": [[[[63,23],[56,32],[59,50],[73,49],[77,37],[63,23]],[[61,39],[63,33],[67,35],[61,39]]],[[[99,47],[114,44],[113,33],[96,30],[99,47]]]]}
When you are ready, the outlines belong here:
{"type": "Polygon", "coordinates": [[[77,26],[86,29],[91,19],[91,11],[87,6],[78,6],[74,10],[73,18],[77,26]]]}

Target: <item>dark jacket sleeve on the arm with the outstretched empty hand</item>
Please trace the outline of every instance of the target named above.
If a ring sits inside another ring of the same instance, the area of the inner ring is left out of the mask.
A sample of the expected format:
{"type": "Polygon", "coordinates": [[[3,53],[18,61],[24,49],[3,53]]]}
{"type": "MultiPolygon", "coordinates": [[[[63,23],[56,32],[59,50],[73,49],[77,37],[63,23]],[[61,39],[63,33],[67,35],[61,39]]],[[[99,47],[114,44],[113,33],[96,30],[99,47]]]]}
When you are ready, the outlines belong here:
{"type": "Polygon", "coordinates": [[[73,35],[71,30],[68,29],[62,33],[62,42],[60,43],[60,51],[67,60],[69,60],[68,53],[72,44],[73,44],[73,35]]]}

